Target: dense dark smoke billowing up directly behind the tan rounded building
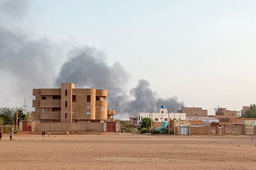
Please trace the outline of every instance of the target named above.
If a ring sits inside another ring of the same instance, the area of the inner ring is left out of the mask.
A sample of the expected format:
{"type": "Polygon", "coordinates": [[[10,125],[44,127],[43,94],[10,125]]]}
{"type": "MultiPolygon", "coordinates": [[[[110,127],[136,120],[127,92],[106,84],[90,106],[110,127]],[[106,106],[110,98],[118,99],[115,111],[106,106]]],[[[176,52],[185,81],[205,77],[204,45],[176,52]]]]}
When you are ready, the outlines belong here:
{"type": "Polygon", "coordinates": [[[113,66],[107,65],[106,57],[96,48],[73,49],[69,54],[70,59],[62,65],[55,86],[72,82],[78,87],[105,88],[108,90],[108,107],[119,111],[123,105],[124,111],[128,113],[156,111],[161,105],[177,109],[184,105],[176,97],[159,98],[145,79],[140,79],[138,86],[131,89],[128,96],[124,88],[130,77],[128,72],[118,62],[113,66]]]}

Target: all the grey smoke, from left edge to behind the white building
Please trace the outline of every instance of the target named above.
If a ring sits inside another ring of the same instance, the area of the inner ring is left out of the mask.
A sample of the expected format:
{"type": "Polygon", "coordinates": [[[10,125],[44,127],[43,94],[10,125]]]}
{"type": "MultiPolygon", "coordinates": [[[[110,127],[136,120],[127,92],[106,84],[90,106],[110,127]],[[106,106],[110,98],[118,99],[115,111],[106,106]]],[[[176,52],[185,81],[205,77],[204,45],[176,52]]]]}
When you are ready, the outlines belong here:
{"type": "Polygon", "coordinates": [[[107,89],[108,107],[116,109],[117,113],[121,105],[127,113],[157,110],[161,105],[168,108],[184,105],[176,97],[158,97],[145,79],[139,80],[129,94],[126,84],[130,74],[118,62],[108,65],[104,53],[96,48],[73,48],[67,54],[68,60],[57,70],[58,61],[65,58],[62,48],[47,38],[33,40],[29,33],[11,29],[10,21],[23,22],[28,6],[28,1],[20,0],[0,3],[0,79],[1,82],[12,79],[5,89],[13,89],[0,88],[5,96],[0,103],[13,102],[13,94],[19,100],[32,101],[33,88],[60,87],[62,82],[70,82],[79,88],[107,89]]]}

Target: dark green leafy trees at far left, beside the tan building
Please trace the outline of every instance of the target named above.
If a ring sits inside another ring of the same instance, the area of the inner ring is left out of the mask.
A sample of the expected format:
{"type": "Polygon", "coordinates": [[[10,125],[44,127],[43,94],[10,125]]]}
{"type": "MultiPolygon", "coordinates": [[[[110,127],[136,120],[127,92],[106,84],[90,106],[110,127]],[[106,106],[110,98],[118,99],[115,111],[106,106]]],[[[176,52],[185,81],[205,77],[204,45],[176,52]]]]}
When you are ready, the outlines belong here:
{"type": "MultiPolygon", "coordinates": [[[[3,119],[3,125],[16,124],[16,108],[0,108],[0,118],[3,119]]],[[[25,119],[22,108],[18,108],[18,124],[20,120],[25,119]]]]}

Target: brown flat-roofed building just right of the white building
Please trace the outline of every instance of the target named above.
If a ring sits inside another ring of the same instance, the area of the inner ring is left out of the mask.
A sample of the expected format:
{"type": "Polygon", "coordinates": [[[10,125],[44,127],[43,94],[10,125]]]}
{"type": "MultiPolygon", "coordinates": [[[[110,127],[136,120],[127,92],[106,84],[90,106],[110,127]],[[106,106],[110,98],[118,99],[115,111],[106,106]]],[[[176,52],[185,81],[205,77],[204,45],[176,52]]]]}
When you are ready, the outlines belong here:
{"type": "Polygon", "coordinates": [[[207,110],[201,107],[182,107],[178,113],[186,113],[186,117],[207,117],[207,110]]]}

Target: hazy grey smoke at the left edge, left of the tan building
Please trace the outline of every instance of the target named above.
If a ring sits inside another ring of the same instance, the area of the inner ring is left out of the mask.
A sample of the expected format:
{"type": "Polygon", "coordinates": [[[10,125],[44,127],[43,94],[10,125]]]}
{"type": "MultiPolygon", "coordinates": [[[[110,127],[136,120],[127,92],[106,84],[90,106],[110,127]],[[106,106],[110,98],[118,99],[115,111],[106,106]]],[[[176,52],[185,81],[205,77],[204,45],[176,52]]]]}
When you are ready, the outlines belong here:
{"type": "Polygon", "coordinates": [[[33,88],[52,87],[54,80],[58,46],[46,38],[33,40],[16,28],[26,20],[28,7],[26,0],[0,2],[0,92],[5,96],[0,102],[4,106],[22,103],[24,98],[32,101],[33,88]]]}

